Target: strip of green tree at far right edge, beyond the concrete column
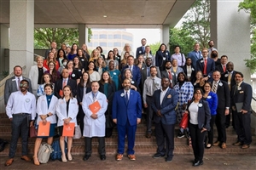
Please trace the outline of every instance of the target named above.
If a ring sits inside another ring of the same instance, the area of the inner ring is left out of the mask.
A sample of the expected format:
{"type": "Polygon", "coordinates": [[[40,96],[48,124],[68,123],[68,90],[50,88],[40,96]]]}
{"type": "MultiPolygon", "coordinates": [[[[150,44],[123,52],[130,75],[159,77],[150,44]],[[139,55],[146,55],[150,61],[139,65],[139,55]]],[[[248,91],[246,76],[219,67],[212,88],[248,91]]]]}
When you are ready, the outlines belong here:
{"type": "Polygon", "coordinates": [[[251,59],[244,59],[251,72],[256,72],[256,1],[244,0],[239,3],[239,10],[244,9],[251,14],[251,59]]]}

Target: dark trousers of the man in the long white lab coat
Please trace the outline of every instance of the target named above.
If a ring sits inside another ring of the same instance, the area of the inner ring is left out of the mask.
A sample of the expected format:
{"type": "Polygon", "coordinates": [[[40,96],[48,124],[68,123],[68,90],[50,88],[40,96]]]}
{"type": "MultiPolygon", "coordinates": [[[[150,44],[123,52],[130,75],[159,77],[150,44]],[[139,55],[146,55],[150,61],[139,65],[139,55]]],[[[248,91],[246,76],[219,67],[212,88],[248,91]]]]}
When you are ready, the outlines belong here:
{"type": "MultiPolygon", "coordinates": [[[[90,156],[91,155],[91,139],[85,137],[85,155],[90,156]]],[[[105,150],[105,137],[97,137],[99,145],[98,145],[98,152],[99,154],[106,155],[106,150],[105,150]]]]}

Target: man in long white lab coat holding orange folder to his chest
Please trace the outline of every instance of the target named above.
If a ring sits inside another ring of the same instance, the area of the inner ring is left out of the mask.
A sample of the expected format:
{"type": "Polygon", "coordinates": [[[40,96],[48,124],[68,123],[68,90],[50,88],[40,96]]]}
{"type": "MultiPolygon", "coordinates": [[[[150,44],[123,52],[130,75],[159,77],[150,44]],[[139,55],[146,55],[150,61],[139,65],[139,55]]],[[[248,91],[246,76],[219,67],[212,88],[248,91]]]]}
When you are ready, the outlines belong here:
{"type": "Polygon", "coordinates": [[[91,139],[98,137],[98,151],[102,161],[106,160],[105,151],[105,112],[108,102],[105,94],[99,92],[99,82],[91,82],[91,92],[84,95],[82,107],[84,110],[84,137],[85,137],[85,156],[87,161],[91,155],[91,139]]]}

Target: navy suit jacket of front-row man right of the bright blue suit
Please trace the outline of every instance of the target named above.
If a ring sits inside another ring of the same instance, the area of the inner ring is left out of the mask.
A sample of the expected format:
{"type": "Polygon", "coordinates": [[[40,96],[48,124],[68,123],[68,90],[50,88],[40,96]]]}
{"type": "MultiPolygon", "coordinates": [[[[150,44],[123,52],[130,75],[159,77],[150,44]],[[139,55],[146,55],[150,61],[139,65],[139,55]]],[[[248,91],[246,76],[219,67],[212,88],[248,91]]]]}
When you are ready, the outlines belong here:
{"type": "Polygon", "coordinates": [[[154,92],[153,98],[154,102],[151,107],[154,111],[154,122],[163,124],[175,124],[176,123],[176,112],[175,108],[177,106],[178,94],[175,90],[168,88],[166,95],[160,105],[160,93],[161,90],[156,90],[154,92]],[[156,112],[160,111],[163,116],[156,116],[156,112]]]}

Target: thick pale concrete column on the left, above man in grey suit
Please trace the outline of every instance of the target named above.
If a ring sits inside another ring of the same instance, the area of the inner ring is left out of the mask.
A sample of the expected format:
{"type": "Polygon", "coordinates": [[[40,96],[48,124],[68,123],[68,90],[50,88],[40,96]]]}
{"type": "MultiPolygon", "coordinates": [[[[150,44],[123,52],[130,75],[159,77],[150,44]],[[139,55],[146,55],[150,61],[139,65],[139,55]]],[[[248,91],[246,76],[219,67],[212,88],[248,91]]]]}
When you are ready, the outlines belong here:
{"type": "Polygon", "coordinates": [[[28,75],[33,65],[34,0],[10,0],[9,71],[15,65],[26,65],[28,75]]]}

